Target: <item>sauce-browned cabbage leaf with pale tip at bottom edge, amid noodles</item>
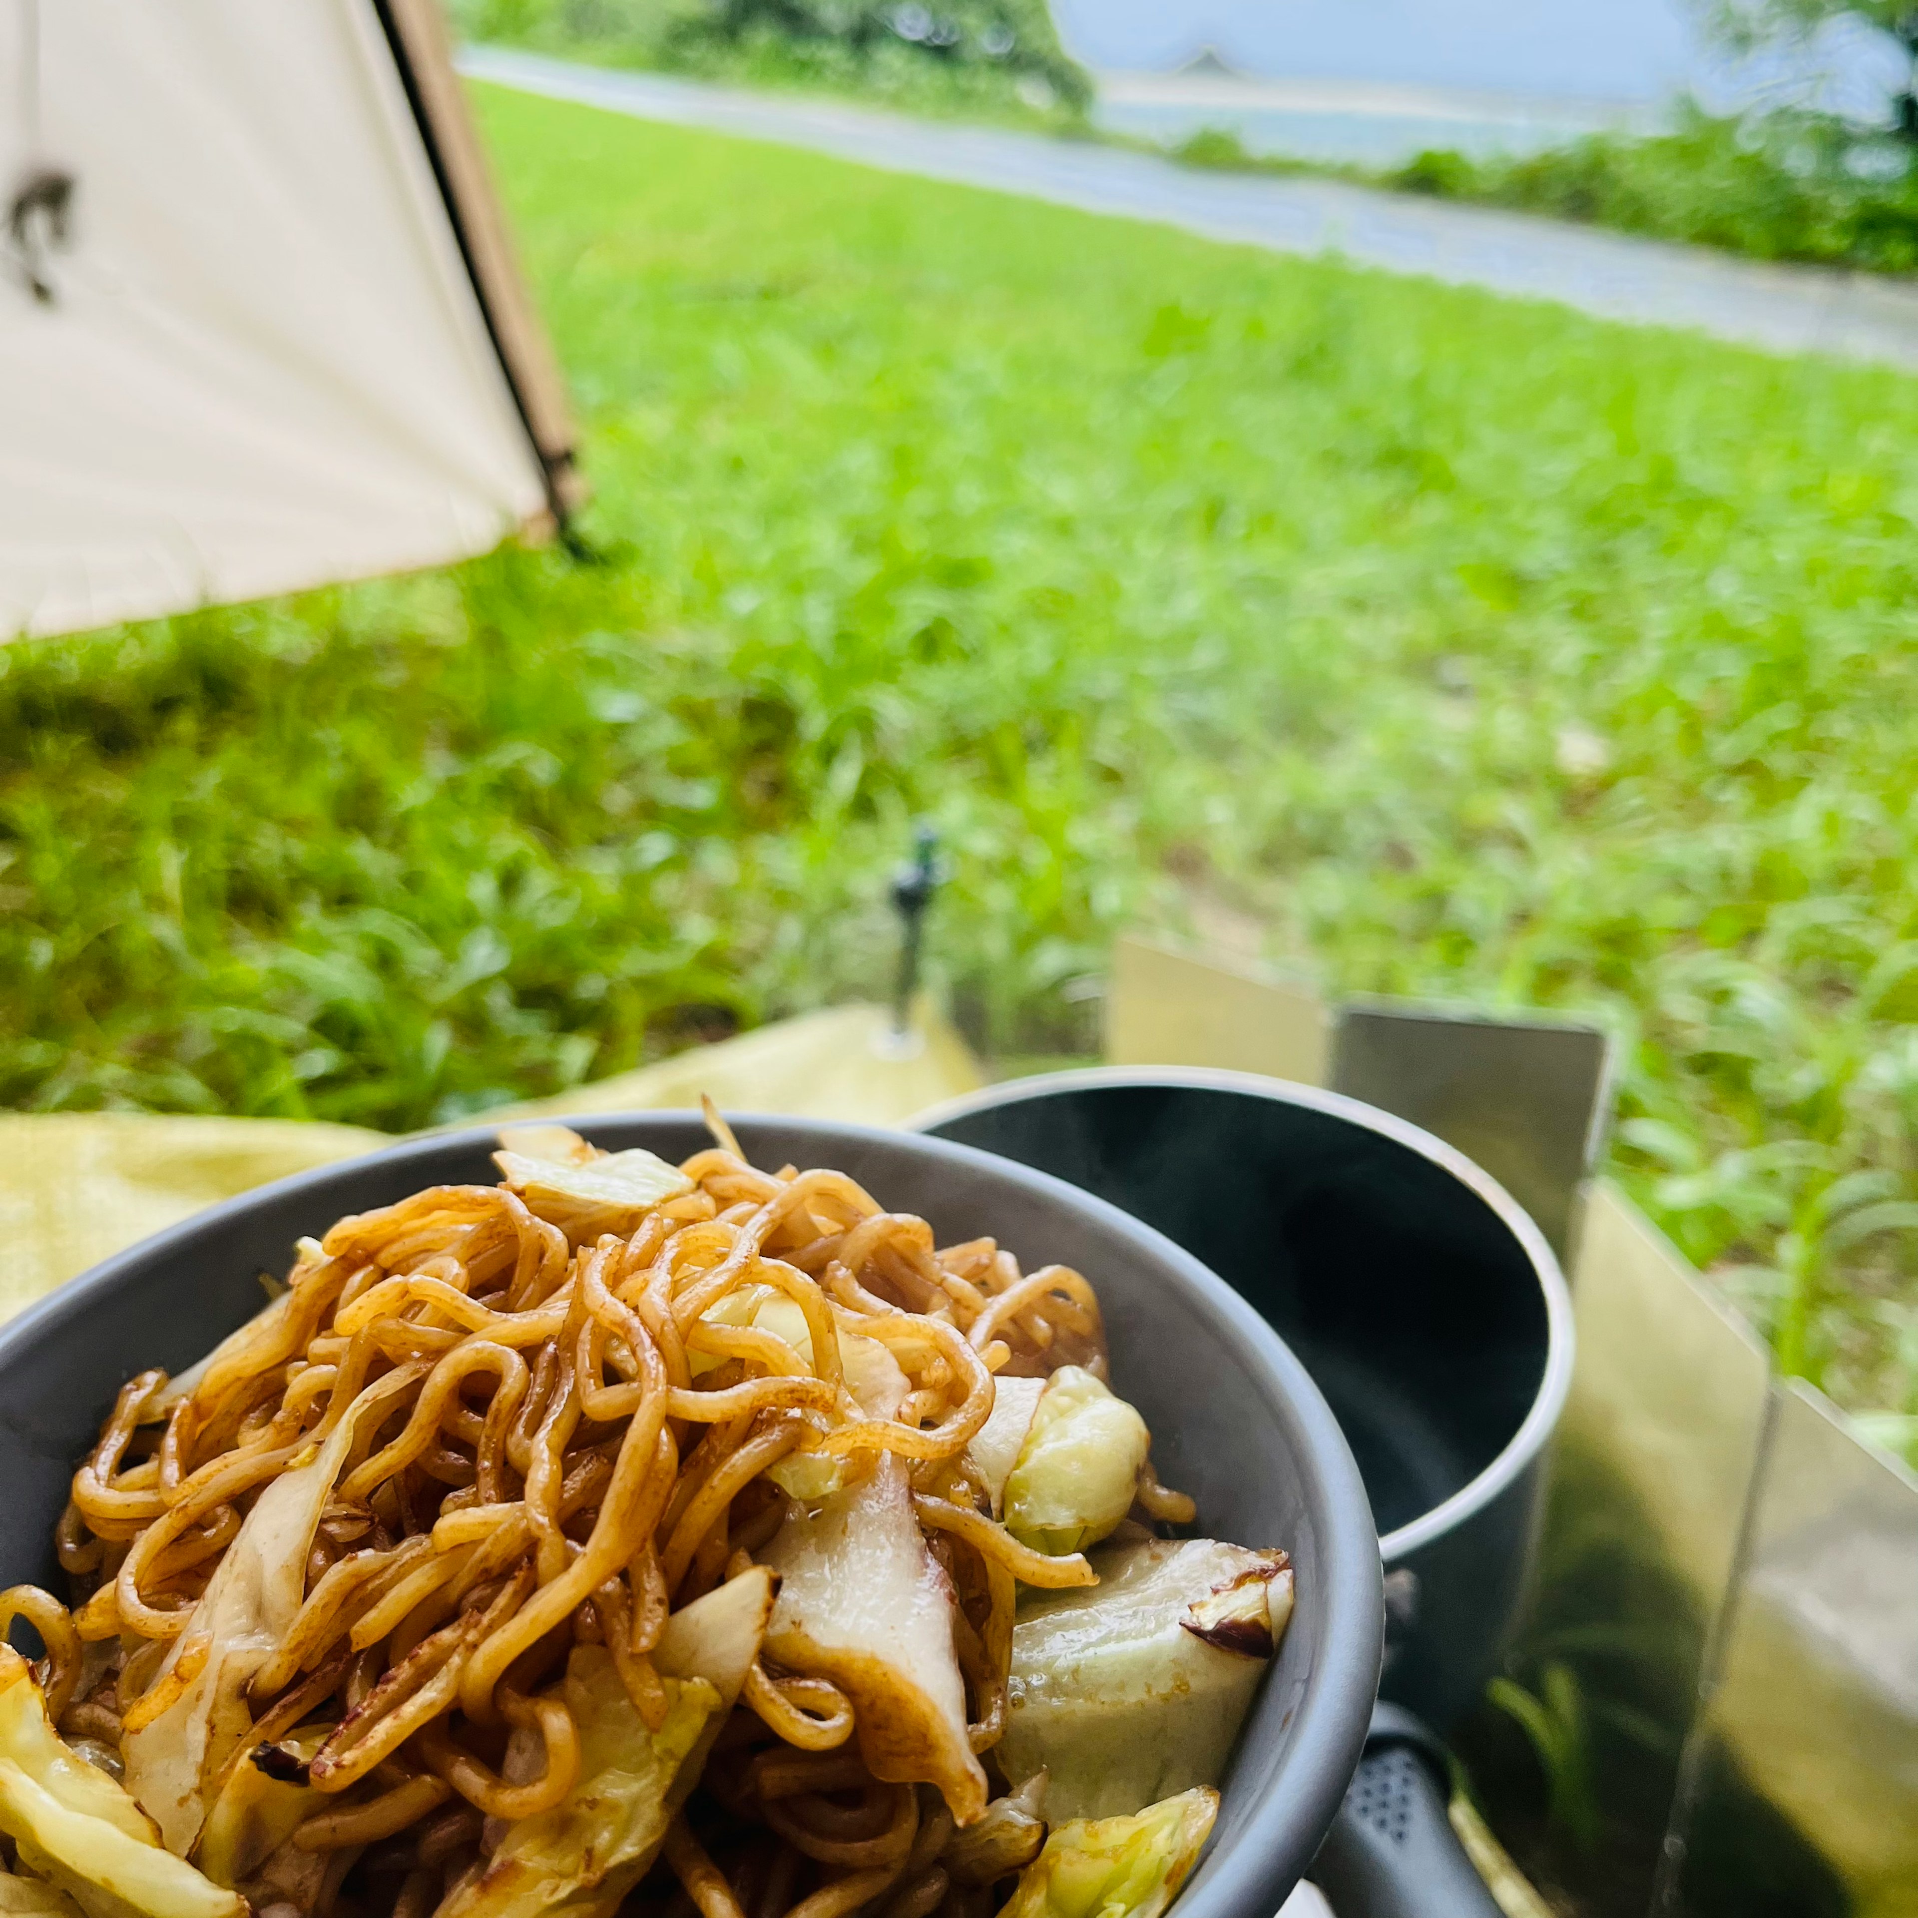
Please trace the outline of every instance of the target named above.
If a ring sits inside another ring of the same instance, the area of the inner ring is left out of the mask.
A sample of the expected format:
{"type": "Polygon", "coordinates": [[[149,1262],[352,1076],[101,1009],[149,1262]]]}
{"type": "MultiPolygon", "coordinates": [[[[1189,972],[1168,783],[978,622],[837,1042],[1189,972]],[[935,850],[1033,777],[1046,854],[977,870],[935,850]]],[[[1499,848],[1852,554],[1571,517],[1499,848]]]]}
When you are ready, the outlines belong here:
{"type": "Polygon", "coordinates": [[[485,1872],[455,1889],[435,1918],[610,1918],[698,1784],[771,1605],[771,1575],[756,1567],[667,1621],[652,1655],[667,1697],[658,1732],[633,1711],[612,1653],[575,1646],[566,1703],[579,1726],[577,1784],[552,1811],[508,1826],[485,1872]]]}

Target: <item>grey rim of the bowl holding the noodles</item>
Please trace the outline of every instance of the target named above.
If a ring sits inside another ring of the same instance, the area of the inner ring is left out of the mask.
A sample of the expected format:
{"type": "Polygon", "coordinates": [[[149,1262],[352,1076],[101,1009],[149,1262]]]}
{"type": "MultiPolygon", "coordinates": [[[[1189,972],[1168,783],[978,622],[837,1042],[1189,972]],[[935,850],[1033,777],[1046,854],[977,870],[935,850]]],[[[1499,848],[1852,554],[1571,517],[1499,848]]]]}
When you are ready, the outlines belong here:
{"type": "MultiPolygon", "coordinates": [[[[771,1126],[815,1135],[823,1145],[834,1139],[873,1141],[894,1151],[946,1158],[974,1174],[988,1172],[995,1180],[1024,1187],[1053,1206],[1086,1216],[1091,1226],[1107,1233],[1141,1243],[1180,1283],[1187,1308],[1201,1312],[1212,1322],[1218,1337],[1237,1346],[1272,1415],[1291,1425],[1300,1465],[1318,1475],[1318,1509],[1312,1509],[1312,1500],[1306,1500],[1306,1506],[1318,1529],[1316,1546],[1323,1565],[1327,1602],[1327,1613],[1320,1621],[1323,1636],[1316,1648],[1310,1684],[1281,1724],[1274,1776],[1254,1799],[1231,1853],[1226,1857],[1214,1853],[1203,1860],[1212,1872],[1205,1885],[1193,1887],[1197,1895],[1187,1893],[1185,1912],[1185,1918],[1268,1918],[1308,1870],[1345,1799],[1364,1749],[1385,1651],[1381,1563],[1371,1506],[1339,1421],[1310,1373],[1285,1341],[1218,1274],[1157,1228],[1068,1180],[997,1153],[959,1145],[953,1139],[934,1139],[907,1128],[748,1111],[729,1111],[727,1120],[740,1132],[771,1126]]],[[[15,1346],[81,1335],[92,1300],[134,1283],[155,1262],[178,1258],[196,1239],[219,1231],[232,1220],[309,1193],[318,1199],[334,1181],[363,1174],[374,1162],[430,1164],[447,1153],[489,1147],[501,1128],[512,1124],[531,1126],[541,1120],[501,1118],[493,1124],[397,1139],[393,1145],[311,1166],[207,1206],[111,1254],[0,1325],[0,1366],[15,1346]]],[[[704,1130],[704,1116],[689,1109],[662,1107],[631,1112],[566,1112],[554,1124],[572,1126],[591,1137],[595,1126],[679,1124],[704,1130]]],[[[424,1178],[420,1183],[433,1180],[424,1178]]]]}

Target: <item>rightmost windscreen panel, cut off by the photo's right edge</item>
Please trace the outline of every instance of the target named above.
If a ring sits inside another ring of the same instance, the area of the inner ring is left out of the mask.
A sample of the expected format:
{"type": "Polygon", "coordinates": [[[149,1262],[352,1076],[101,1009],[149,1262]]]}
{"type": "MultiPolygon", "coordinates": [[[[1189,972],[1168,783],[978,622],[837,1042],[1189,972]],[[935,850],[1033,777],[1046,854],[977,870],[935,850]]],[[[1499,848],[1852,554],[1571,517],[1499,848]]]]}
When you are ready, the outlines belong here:
{"type": "Polygon", "coordinates": [[[1918,1479],[1801,1381],[1686,1753],[1659,1910],[1918,1912],[1918,1479]]]}

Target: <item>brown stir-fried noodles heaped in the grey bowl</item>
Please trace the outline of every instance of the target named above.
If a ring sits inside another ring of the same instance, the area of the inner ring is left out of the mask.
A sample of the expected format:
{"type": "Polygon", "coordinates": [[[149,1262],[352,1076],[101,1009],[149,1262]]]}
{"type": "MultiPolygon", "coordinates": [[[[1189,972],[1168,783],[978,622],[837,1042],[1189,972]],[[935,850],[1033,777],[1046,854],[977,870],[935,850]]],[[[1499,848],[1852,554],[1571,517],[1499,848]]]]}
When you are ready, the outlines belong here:
{"type": "MultiPolygon", "coordinates": [[[[226,1600],[201,1600],[242,1525],[326,1454],[292,1617],[253,1644],[228,1761],[316,1793],[292,1847],[318,1864],[303,1891],[242,1885],[255,1905],[424,1918],[478,1883],[581,1776],[568,1655],[604,1646],[660,1732],[671,1621],[754,1575],[802,1511],[779,1483],[796,1471],[844,1486],[898,1462],[949,1580],[963,1747],[999,1740],[1017,1582],[1091,1573],[1015,1540],[967,1448],[995,1377],[1105,1375],[1093,1289],[1024,1274],[992,1239],[940,1249],[844,1174],[760,1172],[715,1135],[648,1203],[543,1187],[554,1155],[600,1162],[570,1134],[508,1139],[543,1158],[508,1151],[501,1185],[339,1220],[198,1377],[121,1391],[59,1523],[71,1611],[25,1586],[0,1611],[46,1648],[61,1736],[129,1784],[140,1736],[232,1669],[226,1600]],[[855,1391],[855,1348],[894,1381],[890,1406],[855,1391]]],[[[1139,1500],[1191,1517],[1149,1465],[1139,1500]]],[[[671,1818],[671,1876],[635,1901],[700,1918],[990,1910],[986,1887],[1043,1836],[1034,1793],[994,1784],[961,1828],[951,1791],[875,1774],[854,1690],[756,1655],[671,1818]]]]}

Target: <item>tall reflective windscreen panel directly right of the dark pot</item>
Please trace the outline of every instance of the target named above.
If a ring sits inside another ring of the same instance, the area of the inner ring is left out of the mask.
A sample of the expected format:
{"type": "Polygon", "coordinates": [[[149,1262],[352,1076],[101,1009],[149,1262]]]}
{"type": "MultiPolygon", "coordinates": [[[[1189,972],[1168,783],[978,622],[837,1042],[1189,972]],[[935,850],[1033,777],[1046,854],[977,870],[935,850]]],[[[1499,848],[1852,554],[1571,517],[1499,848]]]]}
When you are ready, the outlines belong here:
{"type": "Polygon", "coordinates": [[[1504,1715],[1481,1713],[1462,1745],[1525,1870],[1580,1912],[1636,1918],[1734,1584],[1768,1362],[1607,1181],[1586,1191],[1571,1272],[1579,1362],[1508,1659],[1557,1722],[1555,1816],[1504,1715]]]}

